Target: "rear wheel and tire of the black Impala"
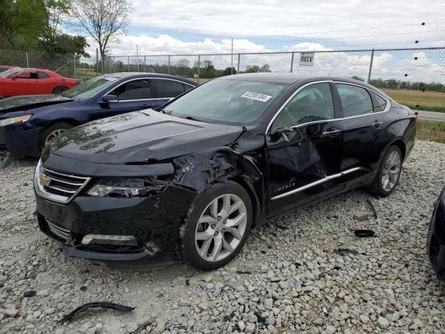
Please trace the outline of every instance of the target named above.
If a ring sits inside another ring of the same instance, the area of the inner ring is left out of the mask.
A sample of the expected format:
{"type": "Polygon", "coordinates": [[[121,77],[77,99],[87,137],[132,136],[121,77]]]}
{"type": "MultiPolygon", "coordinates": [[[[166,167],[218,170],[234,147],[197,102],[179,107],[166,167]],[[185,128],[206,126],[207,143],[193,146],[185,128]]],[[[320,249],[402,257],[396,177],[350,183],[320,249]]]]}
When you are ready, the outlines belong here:
{"type": "Polygon", "coordinates": [[[377,175],[371,185],[371,193],[386,197],[396,189],[402,172],[402,152],[396,145],[388,148],[380,161],[377,175]]]}

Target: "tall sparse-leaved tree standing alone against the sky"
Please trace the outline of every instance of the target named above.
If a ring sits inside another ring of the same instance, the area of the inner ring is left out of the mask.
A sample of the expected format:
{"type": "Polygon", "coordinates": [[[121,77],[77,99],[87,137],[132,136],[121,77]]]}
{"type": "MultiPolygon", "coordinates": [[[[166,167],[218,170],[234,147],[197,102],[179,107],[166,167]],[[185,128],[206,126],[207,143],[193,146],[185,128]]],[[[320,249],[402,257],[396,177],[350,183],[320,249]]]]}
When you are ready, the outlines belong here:
{"type": "Polygon", "coordinates": [[[108,43],[120,42],[132,11],[129,0],[73,0],[70,15],[76,19],[76,26],[99,44],[104,59],[108,43]]]}

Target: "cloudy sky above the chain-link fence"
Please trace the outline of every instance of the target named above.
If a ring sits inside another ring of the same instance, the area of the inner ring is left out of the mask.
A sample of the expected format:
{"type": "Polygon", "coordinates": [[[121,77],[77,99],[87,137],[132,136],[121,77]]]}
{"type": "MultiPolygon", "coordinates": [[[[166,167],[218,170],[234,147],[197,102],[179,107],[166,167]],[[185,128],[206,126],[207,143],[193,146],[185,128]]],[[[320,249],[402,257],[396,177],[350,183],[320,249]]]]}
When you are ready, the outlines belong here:
{"type": "Polygon", "coordinates": [[[109,46],[113,56],[230,53],[232,38],[234,53],[445,45],[443,0],[131,3],[131,24],[109,46]]]}

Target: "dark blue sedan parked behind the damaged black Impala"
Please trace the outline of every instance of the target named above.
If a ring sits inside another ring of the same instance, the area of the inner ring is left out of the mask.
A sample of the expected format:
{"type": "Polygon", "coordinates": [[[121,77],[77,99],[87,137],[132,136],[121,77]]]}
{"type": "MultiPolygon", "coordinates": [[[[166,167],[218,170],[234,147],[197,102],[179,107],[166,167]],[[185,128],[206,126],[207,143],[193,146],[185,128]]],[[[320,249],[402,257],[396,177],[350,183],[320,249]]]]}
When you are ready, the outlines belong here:
{"type": "Polygon", "coordinates": [[[0,152],[40,157],[42,148],[67,129],[156,108],[195,86],[195,81],[165,74],[115,73],[86,81],[62,95],[0,100],[0,152]]]}

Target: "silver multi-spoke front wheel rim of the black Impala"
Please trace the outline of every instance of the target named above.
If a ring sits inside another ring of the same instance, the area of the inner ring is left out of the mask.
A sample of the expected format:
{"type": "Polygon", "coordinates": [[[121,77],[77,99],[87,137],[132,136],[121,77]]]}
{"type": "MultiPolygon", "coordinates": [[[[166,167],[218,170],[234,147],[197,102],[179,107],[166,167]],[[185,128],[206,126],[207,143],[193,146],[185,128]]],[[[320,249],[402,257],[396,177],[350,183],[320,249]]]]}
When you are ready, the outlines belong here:
{"type": "Polygon", "coordinates": [[[218,196],[207,205],[197,223],[197,253],[207,262],[225,259],[238,248],[247,223],[247,209],[241,198],[233,193],[218,196]]]}

